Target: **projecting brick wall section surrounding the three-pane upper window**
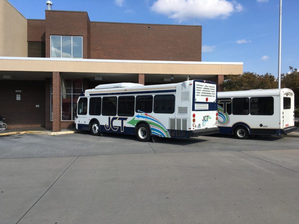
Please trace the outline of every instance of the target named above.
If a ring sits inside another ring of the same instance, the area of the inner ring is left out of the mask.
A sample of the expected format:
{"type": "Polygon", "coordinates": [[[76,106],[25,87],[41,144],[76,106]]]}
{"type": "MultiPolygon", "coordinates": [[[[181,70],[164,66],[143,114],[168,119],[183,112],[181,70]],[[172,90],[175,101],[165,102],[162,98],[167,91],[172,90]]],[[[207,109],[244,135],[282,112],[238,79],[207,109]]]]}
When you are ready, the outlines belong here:
{"type": "Polygon", "coordinates": [[[89,18],[86,12],[46,10],[46,58],[50,57],[50,36],[83,36],[83,58],[89,58],[89,18]]]}

